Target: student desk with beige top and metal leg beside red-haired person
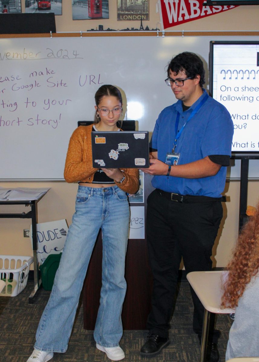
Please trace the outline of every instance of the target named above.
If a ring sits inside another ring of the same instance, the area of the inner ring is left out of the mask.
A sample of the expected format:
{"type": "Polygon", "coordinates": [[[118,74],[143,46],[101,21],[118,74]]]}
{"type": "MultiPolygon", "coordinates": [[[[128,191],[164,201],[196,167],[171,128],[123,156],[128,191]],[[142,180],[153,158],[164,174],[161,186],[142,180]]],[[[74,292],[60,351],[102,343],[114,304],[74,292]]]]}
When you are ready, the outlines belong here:
{"type": "MultiPolygon", "coordinates": [[[[192,271],[187,279],[200,299],[204,310],[200,362],[205,361],[210,313],[234,313],[234,309],[221,309],[221,278],[226,278],[227,271],[192,271]]],[[[259,361],[258,361],[259,362],[259,361]]]]}

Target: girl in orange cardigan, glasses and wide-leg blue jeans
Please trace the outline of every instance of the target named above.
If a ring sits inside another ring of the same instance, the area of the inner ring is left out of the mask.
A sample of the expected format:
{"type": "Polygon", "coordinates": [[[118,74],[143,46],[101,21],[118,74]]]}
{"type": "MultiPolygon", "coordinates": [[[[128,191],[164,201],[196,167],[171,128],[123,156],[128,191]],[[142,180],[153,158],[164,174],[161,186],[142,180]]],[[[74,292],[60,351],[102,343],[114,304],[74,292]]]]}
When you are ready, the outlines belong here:
{"type": "Polygon", "coordinates": [[[93,168],[91,131],[120,131],[122,113],[118,88],[102,85],[95,93],[94,124],[80,126],[72,134],[64,177],[78,182],[75,214],[52,292],[42,313],[34,351],[27,362],[46,362],[53,352],[66,352],[80,292],[99,229],[102,229],[103,260],[100,306],[94,329],[96,348],[112,361],[125,357],[122,337],[122,304],[126,293],[124,264],[128,240],[127,193],[139,187],[137,169],[93,168]]]}

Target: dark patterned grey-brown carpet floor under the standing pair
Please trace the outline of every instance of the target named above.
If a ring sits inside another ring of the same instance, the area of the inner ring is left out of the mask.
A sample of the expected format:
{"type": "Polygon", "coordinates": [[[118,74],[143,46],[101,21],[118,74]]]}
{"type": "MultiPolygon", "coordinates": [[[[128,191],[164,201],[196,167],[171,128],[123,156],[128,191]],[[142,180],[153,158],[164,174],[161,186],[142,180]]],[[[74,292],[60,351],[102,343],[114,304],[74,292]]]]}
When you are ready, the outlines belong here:
{"type": "MultiPolygon", "coordinates": [[[[35,332],[50,292],[41,289],[34,304],[28,304],[33,282],[15,297],[0,296],[0,362],[26,362],[32,353],[35,332]]],[[[179,291],[171,320],[170,345],[156,357],[141,357],[139,350],[147,331],[124,331],[120,346],[125,352],[124,362],[198,362],[200,345],[192,330],[192,299],[187,281],[179,283],[179,291]]],[[[218,341],[220,361],[225,352],[231,320],[218,315],[216,328],[221,331],[218,341]]],[[[55,353],[53,362],[110,362],[106,354],[95,347],[93,331],[83,329],[83,305],[79,302],[77,316],[66,353],[55,353]]]]}

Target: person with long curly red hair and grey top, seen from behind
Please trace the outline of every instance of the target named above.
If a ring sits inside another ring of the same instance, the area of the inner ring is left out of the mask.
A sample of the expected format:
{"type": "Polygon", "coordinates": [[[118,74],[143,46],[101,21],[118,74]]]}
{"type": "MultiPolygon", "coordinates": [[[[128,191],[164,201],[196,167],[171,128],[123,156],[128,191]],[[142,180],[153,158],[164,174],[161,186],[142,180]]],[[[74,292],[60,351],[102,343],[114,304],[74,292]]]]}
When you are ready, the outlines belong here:
{"type": "Polygon", "coordinates": [[[236,357],[259,357],[259,203],[244,225],[223,285],[222,307],[235,308],[229,332],[226,361],[236,357]]]}

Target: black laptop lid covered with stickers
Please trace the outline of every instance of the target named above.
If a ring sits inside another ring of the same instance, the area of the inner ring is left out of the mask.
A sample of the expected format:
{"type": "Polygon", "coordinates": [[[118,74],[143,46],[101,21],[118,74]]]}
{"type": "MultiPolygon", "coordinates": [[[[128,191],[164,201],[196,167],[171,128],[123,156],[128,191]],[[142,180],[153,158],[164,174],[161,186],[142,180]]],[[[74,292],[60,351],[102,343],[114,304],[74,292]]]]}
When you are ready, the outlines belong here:
{"type": "Polygon", "coordinates": [[[94,168],[148,168],[148,131],[93,131],[94,168]]]}

